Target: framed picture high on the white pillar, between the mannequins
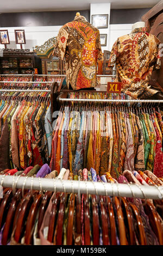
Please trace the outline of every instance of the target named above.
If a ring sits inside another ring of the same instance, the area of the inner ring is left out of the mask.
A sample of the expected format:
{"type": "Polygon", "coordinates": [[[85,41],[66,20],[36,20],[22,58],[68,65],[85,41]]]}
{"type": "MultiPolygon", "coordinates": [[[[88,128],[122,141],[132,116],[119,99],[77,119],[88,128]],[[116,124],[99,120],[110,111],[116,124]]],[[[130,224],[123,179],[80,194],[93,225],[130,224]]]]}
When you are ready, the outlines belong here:
{"type": "Polygon", "coordinates": [[[108,14],[92,15],[92,25],[96,28],[108,28],[108,14]]]}

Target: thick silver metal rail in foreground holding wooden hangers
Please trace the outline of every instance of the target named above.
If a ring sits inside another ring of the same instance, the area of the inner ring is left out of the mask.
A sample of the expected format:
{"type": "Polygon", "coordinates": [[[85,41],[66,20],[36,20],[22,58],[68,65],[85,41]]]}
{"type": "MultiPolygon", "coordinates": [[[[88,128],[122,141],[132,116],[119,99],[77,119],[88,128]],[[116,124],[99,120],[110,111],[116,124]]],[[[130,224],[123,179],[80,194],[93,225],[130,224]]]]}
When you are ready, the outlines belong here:
{"type": "Polygon", "coordinates": [[[69,193],[96,194],[101,196],[133,197],[142,199],[162,199],[163,186],[145,186],[135,184],[112,184],[104,182],[30,178],[23,176],[0,175],[3,187],[30,190],[46,190],[69,193]]]}

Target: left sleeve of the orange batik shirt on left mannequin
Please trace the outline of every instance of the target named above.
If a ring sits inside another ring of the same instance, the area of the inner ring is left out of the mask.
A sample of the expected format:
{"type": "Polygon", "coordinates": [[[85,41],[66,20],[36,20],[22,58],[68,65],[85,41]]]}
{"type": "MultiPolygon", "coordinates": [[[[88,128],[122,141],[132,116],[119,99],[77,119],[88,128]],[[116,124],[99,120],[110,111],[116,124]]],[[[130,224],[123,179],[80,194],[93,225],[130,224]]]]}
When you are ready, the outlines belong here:
{"type": "Polygon", "coordinates": [[[53,51],[53,55],[56,57],[60,57],[61,60],[63,60],[65,57],[68,36],[69,35],[64,27],[61,27],[57,36],[57,44],[54,47],[53,51]]]}

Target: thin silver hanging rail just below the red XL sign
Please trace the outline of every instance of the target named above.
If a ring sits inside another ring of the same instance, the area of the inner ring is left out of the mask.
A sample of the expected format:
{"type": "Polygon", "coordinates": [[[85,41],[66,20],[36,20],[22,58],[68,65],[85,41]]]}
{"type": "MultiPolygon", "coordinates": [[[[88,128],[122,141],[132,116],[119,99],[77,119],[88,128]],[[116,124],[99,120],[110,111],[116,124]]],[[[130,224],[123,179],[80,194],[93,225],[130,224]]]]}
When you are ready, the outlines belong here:
{"type": "MultiPolygon", "coordinates": [[[[97,91],[98,93],[98,91],[97,91]]],[[[59,97],[59,101],[84,101],[84,102],[136,102],[136,103],[163,103],[163,100],[110,100],[110,99],[68,99],[59,97]]]]}

